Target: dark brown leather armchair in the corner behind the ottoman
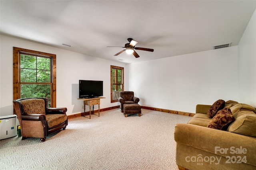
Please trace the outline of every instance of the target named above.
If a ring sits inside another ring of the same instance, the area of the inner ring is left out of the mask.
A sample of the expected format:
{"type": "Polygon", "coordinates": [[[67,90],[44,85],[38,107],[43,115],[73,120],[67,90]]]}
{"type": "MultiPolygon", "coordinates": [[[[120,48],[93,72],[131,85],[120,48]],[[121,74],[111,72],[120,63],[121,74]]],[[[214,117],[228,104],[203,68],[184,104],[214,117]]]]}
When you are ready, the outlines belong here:
{"type": "Polygon", "coordinates": [[[120,102],[121,111],[124,112],[124,104],[138,104],[140,99],[134,97],[134,92],[123,91],[120,92],[120,97],[118,98],[120,102]]]}

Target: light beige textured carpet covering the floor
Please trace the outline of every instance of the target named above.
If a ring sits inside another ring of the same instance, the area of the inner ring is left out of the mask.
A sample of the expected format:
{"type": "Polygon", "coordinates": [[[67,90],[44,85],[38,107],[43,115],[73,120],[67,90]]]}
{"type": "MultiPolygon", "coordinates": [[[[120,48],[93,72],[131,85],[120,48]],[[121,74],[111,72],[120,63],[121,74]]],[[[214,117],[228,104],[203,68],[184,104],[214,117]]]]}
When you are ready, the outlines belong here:
{"type": "Polygon", "coordinates": [[[174,127],[191,117],[142,109],[124,117],[120,109],[100,117],[70,119],[66,130],[39,138],[0,141],[1,170],[178,170],[174,127]]]}

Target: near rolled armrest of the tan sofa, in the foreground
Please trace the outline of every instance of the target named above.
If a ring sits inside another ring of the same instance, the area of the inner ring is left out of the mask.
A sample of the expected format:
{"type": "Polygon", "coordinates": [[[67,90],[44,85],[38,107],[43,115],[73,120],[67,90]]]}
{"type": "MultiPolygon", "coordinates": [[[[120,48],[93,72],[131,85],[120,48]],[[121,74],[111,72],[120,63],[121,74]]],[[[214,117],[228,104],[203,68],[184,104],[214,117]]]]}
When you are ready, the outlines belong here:
{"type": "Polygon", "coordinates": [[[178,123],[174,130],[176,143],[205,150],[219,156],[246,156],[247,164],[256,165],[256,138],[236,133],[211,129],[192,124],[178,123]],[[232,148],[231,148],[232,147],[232,148]],[[233,153],[246,149],[245,154],[233,153]],[[221,152],[226,149],[226,152],[221,152]]]}

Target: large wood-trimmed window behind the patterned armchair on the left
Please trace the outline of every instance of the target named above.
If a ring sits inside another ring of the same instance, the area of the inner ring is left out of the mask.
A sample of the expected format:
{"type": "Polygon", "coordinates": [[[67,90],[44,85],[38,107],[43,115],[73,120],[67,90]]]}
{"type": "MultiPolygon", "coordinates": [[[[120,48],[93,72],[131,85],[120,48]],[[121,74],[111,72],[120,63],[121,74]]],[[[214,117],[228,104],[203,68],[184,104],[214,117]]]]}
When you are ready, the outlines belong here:
{"type": "Polygon", "coordinates": [[[56,55],[13,47],[13,98],[36,97],[56,107],[56,55]]]}

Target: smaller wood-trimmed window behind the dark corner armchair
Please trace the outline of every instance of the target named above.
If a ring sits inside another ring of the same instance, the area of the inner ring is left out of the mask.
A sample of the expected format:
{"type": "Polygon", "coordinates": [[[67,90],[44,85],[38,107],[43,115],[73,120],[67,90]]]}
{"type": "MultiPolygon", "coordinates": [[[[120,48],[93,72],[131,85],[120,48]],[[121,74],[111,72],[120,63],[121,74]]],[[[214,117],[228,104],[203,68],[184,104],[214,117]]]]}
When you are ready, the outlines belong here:
{"type": "Polygon", "coordinates": [[[111,103],[118,102],[119,92],[124,91],[124,68],[118,66],[111,67],[111,103]]]}

